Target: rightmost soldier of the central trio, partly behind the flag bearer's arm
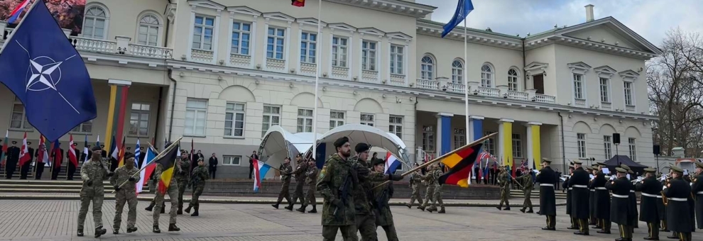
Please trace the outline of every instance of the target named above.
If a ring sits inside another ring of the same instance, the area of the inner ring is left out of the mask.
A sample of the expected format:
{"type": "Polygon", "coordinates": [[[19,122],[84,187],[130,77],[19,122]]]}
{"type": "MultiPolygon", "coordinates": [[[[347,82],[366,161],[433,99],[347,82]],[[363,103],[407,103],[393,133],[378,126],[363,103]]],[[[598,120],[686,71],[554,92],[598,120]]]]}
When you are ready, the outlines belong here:
{"type": "MultiPolygon", "coordinates": [[[[386,162],[383,159],[374,159],[374,172],[383,174],[384,164],[386,162]]],[[[372,186],[378,186],[382,184],[383,181],[374,181],[372,186]]],[[[386,238],[388,241],[398,241],[398,234],[396,233],[396,226],[393,225],[393,213],[391,213],[391,206],[388,206],[388,201],[393,198],[393,181],[383,184],[383,186],[372,190],[374,193],[374,213],[376,214],[376,225],[381,226],[384,231],[386,231],[386,238]]]]}

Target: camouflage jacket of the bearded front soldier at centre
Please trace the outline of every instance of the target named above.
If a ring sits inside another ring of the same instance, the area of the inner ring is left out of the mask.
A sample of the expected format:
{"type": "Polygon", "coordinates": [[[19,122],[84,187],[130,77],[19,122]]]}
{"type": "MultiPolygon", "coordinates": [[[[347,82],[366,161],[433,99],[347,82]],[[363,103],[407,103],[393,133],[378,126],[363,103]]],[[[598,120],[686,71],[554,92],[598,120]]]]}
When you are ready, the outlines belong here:
{"type": "Polygon", "coordinates": [[[337,154],[325,162],[317,175],[317,190],[325,200],[322,203],[322,225],[356,225],[352,196],[357,182],[355,175],[351,162],[337,154]]]}

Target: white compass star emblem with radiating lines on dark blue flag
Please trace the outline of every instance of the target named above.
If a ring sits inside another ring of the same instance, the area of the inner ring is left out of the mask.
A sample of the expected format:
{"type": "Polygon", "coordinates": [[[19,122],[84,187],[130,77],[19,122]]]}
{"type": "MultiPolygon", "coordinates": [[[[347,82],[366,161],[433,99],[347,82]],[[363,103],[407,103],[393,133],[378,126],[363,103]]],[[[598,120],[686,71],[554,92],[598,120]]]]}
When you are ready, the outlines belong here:
{"type": "Polygon", "coordinates": [[[61,64],[70,60],[76,55],[67,57],[62,61],[55,61],[48,56],[38,56],[32,57],[27,51],[27,48],[22,46],[17,40],[15,40],[22,49],[27,52],[29,56],[29,66],[27,69],[27,86],[25,91],[45,91],[48,89],[53,89],[56,94],[61,96],[61,98],[66,101],[66,103],[73,108],[76,113],[80,113],[67,99],[61,94],[56,85],[61,82],[61,64]]]}

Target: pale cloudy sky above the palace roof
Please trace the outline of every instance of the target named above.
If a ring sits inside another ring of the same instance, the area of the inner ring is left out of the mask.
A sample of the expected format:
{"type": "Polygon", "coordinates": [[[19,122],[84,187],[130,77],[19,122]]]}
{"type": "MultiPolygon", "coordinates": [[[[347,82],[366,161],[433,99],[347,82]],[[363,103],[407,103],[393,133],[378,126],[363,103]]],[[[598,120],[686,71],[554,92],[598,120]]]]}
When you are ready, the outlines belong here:
{"type": "MultiPolygon", "coordinates": [[[[437,6],[432,20],[446,23],[452,18],[457,0],[415,0],[437,6]]],[[[593,4],[595,18],[612,16],[660,45],[667,30],[680,27],[687,32],[703,32],[703,4],[699,0],[473,0],[469,14],[470,28],[491,28],[508,35],[540,33],[555,25],[572,26],[586,21],[584,6],[593,4]]],[[[463,24],[463,23],[462,23],[463,24]]]]}

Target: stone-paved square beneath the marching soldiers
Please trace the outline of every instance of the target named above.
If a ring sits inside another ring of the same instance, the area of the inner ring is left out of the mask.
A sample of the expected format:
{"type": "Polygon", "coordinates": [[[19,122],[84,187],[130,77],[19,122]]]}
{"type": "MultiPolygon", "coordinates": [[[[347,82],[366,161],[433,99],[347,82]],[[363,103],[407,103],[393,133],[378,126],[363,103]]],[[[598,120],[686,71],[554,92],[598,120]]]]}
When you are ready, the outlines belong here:
{"type": "MultiPolygon", "coordinates": [[[[148,202],[138,205],[137,227],[139,230],[126,234],[126,224],[121,234],[112,235],[114,201],[105,201],[103,221],[108,234],[103,240],[322,240],[320,213],[298,213],[283,208],[274,210],[265,204],[204,204],[200,217],[180,215],[178,226],[181,232],[165,232],[168,215],[162,215],[162,233],[151,232],[151,213],[143,210],[148,202]]],[[[168,206],[168,204],[167,204],[168,206]]],[[[92,214],[86,218],[86,237],[76,237],[78,201],[71,200],[3,200],[0,201],[0,240],[94,240],[92,214]]],[[[572,235],[566,230],[569,221],[563,207],[557,211],[557,231],[543,231],[544,216],[513,211],[498,211],[496,208],[447,208],[446,214],[427,213],[415,208],[391,208],[400,240],[614,240],[617,235],[589,237],[572,235]]],[[[537,211],[535,209],[535,211],[537,211]]],[[[126,221],[126,210],[122,218],[126,221]]],[[[640,227],[646,227],[641,224],[640,227]]],[[[614,231],[617,231],[615,228],[614,231]]],[[[646,230],[635,230],[635,239],[642,240],[646,230]]],[[[378,229],[379,240],[386,240],[382,228],[378,229]]],[[[694,240],[703,240],[703,235],[694,233],[694,240]]],[[[663,237],[663,236],[662,236],[663,237]]],[[[341,236],[337,240],[342,240],[341,236]]]]}

